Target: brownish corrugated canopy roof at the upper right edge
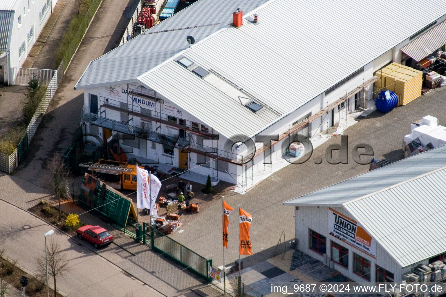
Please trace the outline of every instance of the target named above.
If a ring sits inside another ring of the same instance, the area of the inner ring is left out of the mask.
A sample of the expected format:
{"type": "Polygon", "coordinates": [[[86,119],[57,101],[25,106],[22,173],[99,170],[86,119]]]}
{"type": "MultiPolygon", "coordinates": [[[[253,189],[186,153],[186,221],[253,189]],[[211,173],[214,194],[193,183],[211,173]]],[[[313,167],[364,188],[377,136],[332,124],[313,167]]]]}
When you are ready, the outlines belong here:
{"type": "Polygon", "coordinates": [[[446,44],[446,21],[430,29],[417,39],[405,45],[401,50],[414,60],[421,61],[434,50],[446,44]]]}

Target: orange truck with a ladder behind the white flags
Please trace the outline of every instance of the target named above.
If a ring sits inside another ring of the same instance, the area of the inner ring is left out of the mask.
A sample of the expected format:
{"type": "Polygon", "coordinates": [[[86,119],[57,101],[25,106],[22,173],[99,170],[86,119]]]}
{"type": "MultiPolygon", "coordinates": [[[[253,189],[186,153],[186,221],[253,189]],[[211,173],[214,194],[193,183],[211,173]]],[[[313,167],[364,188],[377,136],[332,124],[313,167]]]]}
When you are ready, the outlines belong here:
{"type": "MultiPolygon", "coordinates": [[[[97,163],[81,163],[79,166],[91,170],[91,175],[113,189],[136,190],[136,165],[101,159],[97,163]]],[[[139,168],[144,169],[142,166],[139,168]]]]}

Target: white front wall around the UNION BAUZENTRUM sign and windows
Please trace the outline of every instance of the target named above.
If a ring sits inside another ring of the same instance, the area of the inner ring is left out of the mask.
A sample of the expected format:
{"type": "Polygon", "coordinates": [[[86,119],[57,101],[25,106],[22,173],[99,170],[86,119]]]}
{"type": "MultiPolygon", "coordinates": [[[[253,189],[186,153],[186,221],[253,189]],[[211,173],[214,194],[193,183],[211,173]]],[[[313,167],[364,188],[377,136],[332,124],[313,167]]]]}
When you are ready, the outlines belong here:
{"type": "MultiPolygon", "coordinates": [[[[364,252],[359,251],[355,247],[351,247],[347,243],[335,238],[334,236],[328,234],[328,207],[317,207],[317,206],[299,206],[298,210],[295,210],[295,236],[299,240],[298,248],[302,252],[312,256],[313,258],[326,263],[326,259],[323,256],[311,250],[309,241],[309,229],[318,232],[319,234],[326,237],[326,256],[331,259],[331,243],[330,240],[335,243],[339,243],[341,246],[348,248],[348,269],[343,268],[337,263],[331,264],[333,268],[341,272],[343,275],[351,278],[356,282],[366,282],[367,280],[353,273],[353,253],[356,253],[371,261],[371,282],[375,281],[375,264],[383,267],[384,269],[392,272],[394,274],[394,281],[401,282],[401,276],[403,269],[401,266],[380,246],[379,243],[376,244],[376,259],[368,256],[364,252]]],[[[351,219],[355,219],[347,210],[340,207],[332,207],[334,210],[341,214],[346,215],[351,219]]],[[[355,219],[356,220],[356,219],[355,219]]],[[[357,220],[356,220],[357,221],[357,220]]],[[[359,222],[360,223],[360,222],[359,222]]],[[[375,239],[372,239],[375,240],[375,239]]],[[[407,270],[407,269],[406,269],[407,270]]],[[[410,269],[409,269],[410,270],[410,269]]]]}

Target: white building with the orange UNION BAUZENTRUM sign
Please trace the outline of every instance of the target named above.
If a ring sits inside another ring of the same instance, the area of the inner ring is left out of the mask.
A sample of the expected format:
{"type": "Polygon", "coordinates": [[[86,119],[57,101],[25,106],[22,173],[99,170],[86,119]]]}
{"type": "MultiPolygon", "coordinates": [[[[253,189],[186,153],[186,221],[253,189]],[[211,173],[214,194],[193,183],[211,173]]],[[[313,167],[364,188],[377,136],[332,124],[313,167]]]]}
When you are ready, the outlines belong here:
{"type": "MultiPolygon", "coordinates": [[[[298,249],[343,275],[357,282],[419,281],[420,265],[446,259],[445,181],[441,146],[284,204],[295,207],[298,249]]],[[[438,267],[444,264],[434,272],[438,267]]]]}

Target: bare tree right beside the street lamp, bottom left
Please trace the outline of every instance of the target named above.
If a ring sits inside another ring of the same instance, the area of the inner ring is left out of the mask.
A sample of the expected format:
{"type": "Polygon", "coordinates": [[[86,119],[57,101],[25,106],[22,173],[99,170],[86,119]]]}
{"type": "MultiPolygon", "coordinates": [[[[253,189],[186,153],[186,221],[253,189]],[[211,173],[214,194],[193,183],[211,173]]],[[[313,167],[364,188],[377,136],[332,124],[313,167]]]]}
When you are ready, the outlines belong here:
{"type": "MultiPolygon", "coordinates": [[[[57,297],[56,278],[64,277],[66,272],[70,270],[68,261],[66,260],[66,252],[62,252],[60,244],[55,239],[50,239],[47,248],[48,257],[48,274],[53,277],[54,281],[54,297],[57,297]]],[[[37,257],[37,264],[41,276],[46,274],[45,254],[37,257]]]]}

